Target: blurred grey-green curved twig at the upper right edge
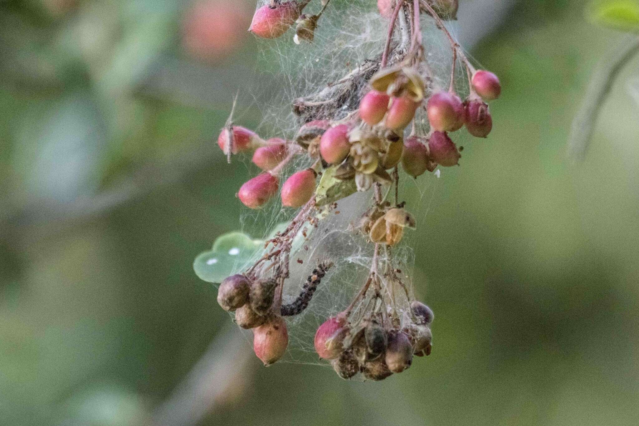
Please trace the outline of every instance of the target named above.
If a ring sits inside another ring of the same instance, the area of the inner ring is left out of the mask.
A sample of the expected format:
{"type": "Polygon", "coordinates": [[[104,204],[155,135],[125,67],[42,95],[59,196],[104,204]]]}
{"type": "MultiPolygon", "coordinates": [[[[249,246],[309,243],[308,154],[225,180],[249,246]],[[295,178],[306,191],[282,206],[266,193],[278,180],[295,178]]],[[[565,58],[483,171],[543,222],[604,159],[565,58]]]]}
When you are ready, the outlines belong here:
{"type": "Polygon", "coordinates": [[[573,162],[581,162],[592,140],[597,117],[610,94],[619,72],[639,52],[639,38],[630,36],[617,49],[604,56],[590,79],[586,96],[581,103],[568,138],[567,155],[573,162]]]}

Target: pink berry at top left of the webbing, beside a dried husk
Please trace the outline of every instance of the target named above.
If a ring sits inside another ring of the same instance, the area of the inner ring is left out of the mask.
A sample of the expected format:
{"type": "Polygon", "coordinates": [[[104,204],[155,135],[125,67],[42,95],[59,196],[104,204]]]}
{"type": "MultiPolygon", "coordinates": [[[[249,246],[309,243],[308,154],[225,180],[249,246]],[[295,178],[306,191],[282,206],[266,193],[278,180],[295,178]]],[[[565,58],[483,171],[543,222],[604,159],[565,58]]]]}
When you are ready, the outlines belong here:
{"type": "Polygon", "coordinates": [[[249,31],[258,37],[277,38],[295,24],[307,3],[295,0],[277,2],[273,8],[267,3],[255,11],[249,31]]]}

